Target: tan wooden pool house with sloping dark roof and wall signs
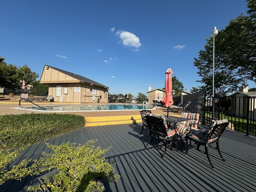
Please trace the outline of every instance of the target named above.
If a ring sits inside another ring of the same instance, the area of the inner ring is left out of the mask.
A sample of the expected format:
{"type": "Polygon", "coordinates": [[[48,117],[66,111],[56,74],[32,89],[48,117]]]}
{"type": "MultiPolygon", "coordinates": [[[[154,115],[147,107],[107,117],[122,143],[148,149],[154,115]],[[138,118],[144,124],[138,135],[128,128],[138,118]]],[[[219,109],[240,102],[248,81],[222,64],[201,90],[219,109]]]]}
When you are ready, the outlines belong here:
{"type": "Polygon", "coordinates": [[[107,103],[109,87],[98,82],[45,65],[40,83],[48,84],[48,95],[58,102],[107,103]]]}

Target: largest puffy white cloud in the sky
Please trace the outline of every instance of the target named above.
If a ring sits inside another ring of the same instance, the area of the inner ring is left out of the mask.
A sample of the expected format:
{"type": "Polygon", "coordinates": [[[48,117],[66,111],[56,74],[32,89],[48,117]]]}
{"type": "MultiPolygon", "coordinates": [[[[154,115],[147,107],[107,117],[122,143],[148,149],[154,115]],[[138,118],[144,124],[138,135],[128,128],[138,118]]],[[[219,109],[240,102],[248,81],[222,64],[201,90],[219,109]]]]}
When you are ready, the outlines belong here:
{"type": "Polygon", "coordinates": [[[141,46],[140,39],[133,33],[128,32],[128,31],[118,30],[116,32],[116,35],[119,35],[119,37],[122,41],[122,44],[124,46],[134,48],[133,51],[139,50],[138,48],[141,46]]]}

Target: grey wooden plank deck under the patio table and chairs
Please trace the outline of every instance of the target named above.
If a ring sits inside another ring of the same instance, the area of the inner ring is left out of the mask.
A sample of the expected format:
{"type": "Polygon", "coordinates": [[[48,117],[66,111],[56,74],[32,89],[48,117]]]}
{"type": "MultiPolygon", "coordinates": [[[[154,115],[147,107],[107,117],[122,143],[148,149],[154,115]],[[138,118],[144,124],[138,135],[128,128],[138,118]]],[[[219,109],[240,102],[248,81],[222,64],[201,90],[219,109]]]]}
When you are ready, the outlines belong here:
{"type": "MultiPolygon", "coordinates": [[[[209,149],[215,168],[212,169],[206,155],[191,148],[184,155],[185,144],[180,140],[178,152],[160,148],[157,139],[145,148],[148,132],[140,135],[142,124],[120,124],[84,127],[79,130],[52,138],[45,142],[59,145],[63,142],[85,143],[98,139],[102,148],[112,146],[106,154],[106,161],[116,162],[115,173],[121,178],[117,183],[107,184],[108,192],[252,192],[256,189],[256,139],[238,132],[225,130],[220,149],[226,162],[222,162],[216,150],[209,149]]],[[[27,147],[20,159],[38,158],[42,151],[48,151],[45,142],[27,147]]],[[[200,147],[203,150],[203,147],[200,147]]],[[[0,191],[27,191],[36,184],[36,177],[22,181],[8,181],[0,191]]]]}

